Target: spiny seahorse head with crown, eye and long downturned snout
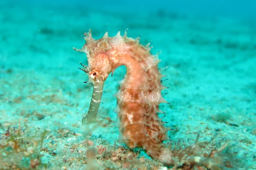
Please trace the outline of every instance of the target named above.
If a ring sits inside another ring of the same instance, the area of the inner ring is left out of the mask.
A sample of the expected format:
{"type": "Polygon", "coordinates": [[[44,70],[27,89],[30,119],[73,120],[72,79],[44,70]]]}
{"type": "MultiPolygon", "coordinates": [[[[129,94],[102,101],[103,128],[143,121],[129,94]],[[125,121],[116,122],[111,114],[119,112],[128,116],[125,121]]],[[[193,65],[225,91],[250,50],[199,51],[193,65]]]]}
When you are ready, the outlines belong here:
{"type": "Polygon", "coordinates": [[[83,45],[82,49],[73,49],[78,52],[85,52],[87,56],[88,66],[80,62],[83,68],[79,69],[83,70],[88,75],[89,80],[84,83],[93,84],[93,94],[88,114],[82,121],[83,123],[94,123],[96,122],[104,81],[110,74],[112,65],[107,50],[108,44],[104,37],[101,39],[93,39],[91,30],[89,30],[88,33],[85,33],[84,39],[86,43],[83,45]]]}

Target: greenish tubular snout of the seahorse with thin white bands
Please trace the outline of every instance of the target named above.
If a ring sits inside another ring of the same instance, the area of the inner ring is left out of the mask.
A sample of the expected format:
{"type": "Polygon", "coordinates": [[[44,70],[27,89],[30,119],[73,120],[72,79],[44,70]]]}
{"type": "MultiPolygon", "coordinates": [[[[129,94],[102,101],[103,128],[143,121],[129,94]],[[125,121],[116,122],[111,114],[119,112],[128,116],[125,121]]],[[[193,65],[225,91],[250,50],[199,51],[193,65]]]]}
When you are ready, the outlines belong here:
{"type": "Polygon", "coordinates": [[[92,99],[89,106],[87,115],[82,119],[83,124],[95,123],[97,112],[100,106],[102,91],[103,91],[104,82],[94,82],[93,83],[93,92],[92,99]]]}

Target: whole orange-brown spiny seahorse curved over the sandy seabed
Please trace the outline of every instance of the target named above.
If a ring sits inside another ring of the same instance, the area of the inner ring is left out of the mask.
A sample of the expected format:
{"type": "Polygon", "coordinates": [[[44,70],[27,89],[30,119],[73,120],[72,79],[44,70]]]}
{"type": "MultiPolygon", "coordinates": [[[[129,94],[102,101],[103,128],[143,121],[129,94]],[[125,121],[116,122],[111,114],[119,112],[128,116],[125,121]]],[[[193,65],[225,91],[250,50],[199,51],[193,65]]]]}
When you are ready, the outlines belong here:
{"type": "Polygon", "coordinates": [[[91,30],[85,33],[86,43],[82,49],[85,52],[88,66],[82,64],[89,76],[89,82],[94,84],[94,91],[88,114],[83,122],[93,123],[99,108],[103,83],[108,75],[119,66],[126,66],[126,75],[120,82],[118,92],[113,96],[117,99],[115,112],[120,120],[119,141],[130,148],[142,147],[147,154],[166,165],[173,165],[172,153],[162,144],[166,140],[164,122],[157,113],[160,103],[168,103],[161,95],[166,89],[161,85],[161,74],[158,69],[159,53],[152,55],[150,43],[143,46],[140,37],[133,39],[118,31],[116,36],[109,37],[108,32],[100,39],[93,39],[91,30]]]}

